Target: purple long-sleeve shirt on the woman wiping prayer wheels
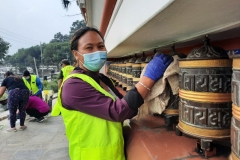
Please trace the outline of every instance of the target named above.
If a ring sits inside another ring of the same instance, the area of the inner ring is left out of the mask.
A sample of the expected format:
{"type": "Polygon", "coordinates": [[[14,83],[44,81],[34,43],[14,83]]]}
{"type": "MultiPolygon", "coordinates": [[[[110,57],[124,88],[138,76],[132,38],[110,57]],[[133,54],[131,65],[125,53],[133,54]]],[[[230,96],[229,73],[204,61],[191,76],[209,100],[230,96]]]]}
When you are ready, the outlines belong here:
{"type": "Polygon", "coordinates": [[[135,116],[137,108],[143,103],[143,99],[136,88],[123,97],[106,76],[97,76],[97,74],[86,72],[80,68],[75,69],[72,73],[87,74],[98,83],[101,79],[119,99],[114,101],[97,91],[89,83],[79,78],[70,78],[64,83],[61,95],[63,107],[66,109],[77,110],[106,120],[122,122],[135,116]],[[139,98],[140,100],[137,100],[139,98]]]}

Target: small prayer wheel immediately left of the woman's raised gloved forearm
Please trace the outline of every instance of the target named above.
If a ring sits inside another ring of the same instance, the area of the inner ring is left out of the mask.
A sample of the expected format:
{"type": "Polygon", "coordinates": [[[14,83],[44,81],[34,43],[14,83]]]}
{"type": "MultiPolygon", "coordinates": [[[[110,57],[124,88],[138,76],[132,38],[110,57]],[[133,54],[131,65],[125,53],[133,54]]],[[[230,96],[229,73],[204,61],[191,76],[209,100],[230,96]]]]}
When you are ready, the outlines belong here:
{"type": "Polygon", "coordinates": [[[142,57],[138,58],[135,63],[132,65],[132,76],[133,76],[133,86],[135,86],[135,84],[137,84],[140,80],[140,76],[141,76],[141,64],[144,63],[144,61],[146,60],[144,52],[142,54],[142,57]]]}

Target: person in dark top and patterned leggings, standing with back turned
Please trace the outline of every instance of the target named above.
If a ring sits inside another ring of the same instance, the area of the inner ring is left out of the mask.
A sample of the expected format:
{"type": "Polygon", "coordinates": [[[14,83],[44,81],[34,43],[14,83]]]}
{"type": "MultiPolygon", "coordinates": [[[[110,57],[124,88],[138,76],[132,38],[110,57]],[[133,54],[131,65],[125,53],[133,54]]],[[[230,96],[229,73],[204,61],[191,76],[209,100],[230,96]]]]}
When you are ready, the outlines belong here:
{"type": "Polygon", "coordinates": [[[8,109],[11,128],[7,129],[8,132],[16,132],[16,112],[19,109],[20,114],[20,128],[24,130],[27,126],[24,125],[26,118],[26,105],[29,97],[29,90],[25,86],[21,77],[14,76],[10,71],[4,74],[4,80],[0,88],[0,97],[8,90],[8,109]]]}

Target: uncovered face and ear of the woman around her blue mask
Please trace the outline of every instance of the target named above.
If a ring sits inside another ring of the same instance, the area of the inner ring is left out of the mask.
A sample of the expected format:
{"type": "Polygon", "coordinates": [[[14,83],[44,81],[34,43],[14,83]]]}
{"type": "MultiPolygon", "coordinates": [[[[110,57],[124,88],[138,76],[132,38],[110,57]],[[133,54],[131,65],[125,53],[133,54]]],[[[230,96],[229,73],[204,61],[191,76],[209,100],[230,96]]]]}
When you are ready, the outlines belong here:
{"type": "MultiPolygon", "coordinates": [[[[106,51],[106,48],[102,38],[98,33],[94,31],[88,31],[78,40],[77,51],[81,54],[88,54],[96,51],[106,51]]],[[[73,52],[75,59],[84,63],[83,56],[78,52],[73,52]]],[[[79,63],[79,65],[81,68],[84,68],[82,63],[79,63]]]]}

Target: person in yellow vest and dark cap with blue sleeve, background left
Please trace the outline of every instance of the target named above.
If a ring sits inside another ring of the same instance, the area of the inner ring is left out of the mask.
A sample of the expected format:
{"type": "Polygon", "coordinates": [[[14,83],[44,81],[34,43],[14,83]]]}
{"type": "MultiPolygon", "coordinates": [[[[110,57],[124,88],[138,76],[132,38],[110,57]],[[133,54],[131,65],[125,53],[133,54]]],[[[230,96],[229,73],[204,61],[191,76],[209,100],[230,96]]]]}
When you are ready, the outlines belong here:
{"type": "Polygon", "coordinates": [[[38,96],[42,99],[43,85],[37,75],[30,75],[28,70],[23,72],[23,81],[27,88],[32,92],[32,95],[38,96]]]}

